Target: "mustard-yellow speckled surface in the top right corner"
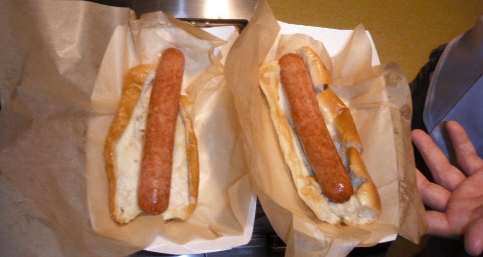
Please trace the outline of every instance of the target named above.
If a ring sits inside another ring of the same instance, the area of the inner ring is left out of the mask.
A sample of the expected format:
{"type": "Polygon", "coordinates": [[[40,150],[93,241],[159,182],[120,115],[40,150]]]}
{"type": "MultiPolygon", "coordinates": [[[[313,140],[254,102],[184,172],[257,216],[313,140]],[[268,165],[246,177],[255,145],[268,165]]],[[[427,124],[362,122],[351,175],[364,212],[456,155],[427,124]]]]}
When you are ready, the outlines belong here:
{"type": "Polygon", "coordinates": [[[278,20],[334,29],[364,24],[381,63],[396,62],[408,82],[432,49],[474,26],[483,0],[268,0],[278,20]]]}

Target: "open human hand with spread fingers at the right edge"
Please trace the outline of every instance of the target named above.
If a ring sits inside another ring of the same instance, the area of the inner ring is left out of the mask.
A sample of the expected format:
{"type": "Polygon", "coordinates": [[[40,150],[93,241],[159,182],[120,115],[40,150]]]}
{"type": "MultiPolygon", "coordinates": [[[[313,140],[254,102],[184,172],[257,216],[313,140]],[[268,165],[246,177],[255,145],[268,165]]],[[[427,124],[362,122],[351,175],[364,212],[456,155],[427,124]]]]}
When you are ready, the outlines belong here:
{"type": "MultiPolygon", "coordinates": [[[[456,161],[453,166],[422,130],[412,131],[412,140],[428,165],[435,183],[417,170],[418,188],[428,207],[429,234],[463,238],[468,254],[483,251],[483,160],[476,155],[465,129],[455,121],[446,123],[456,161]],[[465,175],[466,174],[466,175],[465,175]]],[[[483,135],[482,135],[483,136],[483,135]]]]}

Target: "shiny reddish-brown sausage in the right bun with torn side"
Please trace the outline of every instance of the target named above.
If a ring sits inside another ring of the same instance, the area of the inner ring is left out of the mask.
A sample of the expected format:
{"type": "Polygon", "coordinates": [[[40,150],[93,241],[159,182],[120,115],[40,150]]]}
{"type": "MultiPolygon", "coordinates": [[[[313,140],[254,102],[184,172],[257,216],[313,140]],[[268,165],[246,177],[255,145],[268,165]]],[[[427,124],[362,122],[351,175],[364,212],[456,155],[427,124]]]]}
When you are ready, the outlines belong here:
{"type": "Polygon", "coordinates": [[[295,53],[288,53],[280,58],[279,64],[295,129],[315,179],[330,202],[345,202],[354,189],[327,130],[303,60],[295,53]]]}

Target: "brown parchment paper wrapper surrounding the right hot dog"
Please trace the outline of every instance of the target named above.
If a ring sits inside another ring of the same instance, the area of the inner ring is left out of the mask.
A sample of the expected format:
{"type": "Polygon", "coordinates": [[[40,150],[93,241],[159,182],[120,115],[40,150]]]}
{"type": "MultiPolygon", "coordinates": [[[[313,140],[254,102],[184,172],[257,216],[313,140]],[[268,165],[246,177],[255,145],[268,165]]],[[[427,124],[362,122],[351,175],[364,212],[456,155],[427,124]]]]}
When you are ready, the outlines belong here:
{"type": "MultiPolygon", "coordinates": [[[[410,142],[409,87],[396,64],[372,67],[371,44],[362,26],[337,55],[302,34],[279,36],[266,1],[231,48],[225,77],[234,95],[250,169],[250,182],[288,256],[344,256],[356,246],[372,246],[400,234],[419,242],[426,230],[416,187],[410,142]],[[283,161],[268,105],[258,86],[261,64],[302,46],[316,50],[328,65],[332,89],[350,108],[364,151],[362,158],[382,201],[382,214],[370,225],[333,226],[316,219],[296,193],[283,161]],[[250,55],[244,53],[251,53],[250,55]]],[[[327,40],[330,40],[328,38],[327,40]]]]}

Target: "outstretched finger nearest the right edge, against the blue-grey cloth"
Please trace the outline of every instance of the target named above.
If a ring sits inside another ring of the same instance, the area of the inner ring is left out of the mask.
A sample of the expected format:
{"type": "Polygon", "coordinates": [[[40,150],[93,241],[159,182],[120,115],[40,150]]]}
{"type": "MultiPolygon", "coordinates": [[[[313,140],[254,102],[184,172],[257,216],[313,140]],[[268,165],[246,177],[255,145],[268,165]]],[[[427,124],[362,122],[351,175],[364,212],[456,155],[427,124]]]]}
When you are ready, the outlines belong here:
{"type": "Polygon", "coordinates": [[[465,128],[456,121],[448,121],[446,128],[456,153],[456,161],[465,173],[469,176],[477,170],[483,169],[483,160],[476,154],[475,147],[469,140],[465,128]]]}

